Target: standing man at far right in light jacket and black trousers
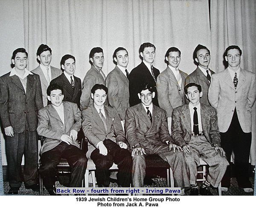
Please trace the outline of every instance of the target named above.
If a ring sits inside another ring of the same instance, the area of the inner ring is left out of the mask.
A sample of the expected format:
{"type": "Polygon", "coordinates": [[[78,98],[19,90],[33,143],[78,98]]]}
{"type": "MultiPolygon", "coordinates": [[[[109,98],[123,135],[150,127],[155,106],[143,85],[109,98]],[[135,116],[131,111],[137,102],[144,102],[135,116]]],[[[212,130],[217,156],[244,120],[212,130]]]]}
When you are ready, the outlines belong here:
{"type": "MultiPolygon", "coordinates": [[[[235,154],[236,179],[240,188],[252,192],[249,181],[249,155],[252,139],[252,107],[256,99],[256,77],[240,68],[242,51],[229,46],[224,54],[228,67],[212,75],[209,86],[209,103],[217,109],[221,147],[230,162],[235,154]]],[[[230,166],[222,179],[222,187],[230,187],[230,166]]]]}

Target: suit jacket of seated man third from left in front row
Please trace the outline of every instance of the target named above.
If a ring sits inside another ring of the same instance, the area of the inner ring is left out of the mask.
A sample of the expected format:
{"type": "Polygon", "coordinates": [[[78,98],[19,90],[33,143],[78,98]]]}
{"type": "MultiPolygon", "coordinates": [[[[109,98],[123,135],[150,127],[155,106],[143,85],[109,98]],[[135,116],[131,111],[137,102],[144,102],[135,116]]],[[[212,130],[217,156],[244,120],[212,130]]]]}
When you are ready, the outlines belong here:
{"type": "Polygon", "coordinates": [[[125,134],[130,148],[139,144],[167,145],[172,141],[168,131],[166,111],[153,105],[152,123],[142,103],[130,107],[125,116],[125,134]]]}

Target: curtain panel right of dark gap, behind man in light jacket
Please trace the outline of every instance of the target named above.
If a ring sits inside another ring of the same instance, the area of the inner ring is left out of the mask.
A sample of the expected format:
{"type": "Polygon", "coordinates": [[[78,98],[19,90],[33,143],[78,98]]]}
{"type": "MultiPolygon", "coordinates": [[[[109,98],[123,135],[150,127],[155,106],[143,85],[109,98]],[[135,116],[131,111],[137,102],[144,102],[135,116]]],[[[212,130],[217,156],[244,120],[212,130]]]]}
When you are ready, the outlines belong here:
{"type": "MultiPolygon", "coordinates": [[[[223,54],[231,45],[242,50],[241,68],[256,73],[256,1],[211,0],[211,65],[215,72],[224,70],[223,54]]],[[[256,105],[253,107],[252,164],[256,158],[256,105]]],[[[241,140],[242,142],[242,140],[241,140]]]]}

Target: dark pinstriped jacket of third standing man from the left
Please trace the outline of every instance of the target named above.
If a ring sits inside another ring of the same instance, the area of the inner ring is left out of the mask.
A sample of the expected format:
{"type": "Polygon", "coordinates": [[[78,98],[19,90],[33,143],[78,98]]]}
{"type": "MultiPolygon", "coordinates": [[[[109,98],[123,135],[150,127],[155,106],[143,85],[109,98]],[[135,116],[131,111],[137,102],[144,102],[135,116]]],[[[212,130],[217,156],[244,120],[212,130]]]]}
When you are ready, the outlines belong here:
{"type": "Polygon", "coordinates": [[[77,106],[80,108],[80,97],[82,92],[82,85],[81,85],[80,78],[74,76],[74,83],[75,83],[74,88],[72,88],[72,85],[70,84],[69,80],[67,79],[64,73],[62,73],[60,76],[52,80],[50,84],[53,84],[53,83],[63,87],[63,94],[64,94],[63,101],[76,103],[77,106]]]}

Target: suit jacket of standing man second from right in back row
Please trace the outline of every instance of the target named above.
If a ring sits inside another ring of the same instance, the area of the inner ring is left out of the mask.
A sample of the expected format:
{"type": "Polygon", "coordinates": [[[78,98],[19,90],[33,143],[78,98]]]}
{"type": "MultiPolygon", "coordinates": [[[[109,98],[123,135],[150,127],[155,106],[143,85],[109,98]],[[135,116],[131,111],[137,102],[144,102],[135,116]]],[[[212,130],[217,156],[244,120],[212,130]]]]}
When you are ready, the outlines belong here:
{"type": "MultiPolygon", "coordinates": [[[[215,74],[214,71],[210,70],[211,75],[215,74]]],[[[196,83],[197,85],[201,85],[203,96],[200,98],[200,103],[205,105],[210,105],[208,100],[208,88],[209,88],[209,81],[204,73],[201,71],[200,68],[196,68],[189,76],[186,77],[185,86],[189,83],[196,83]]],[[[189,103],[189,100],[186,99],[186,103],[189,103]]]]}

